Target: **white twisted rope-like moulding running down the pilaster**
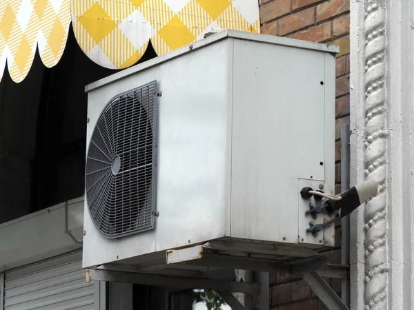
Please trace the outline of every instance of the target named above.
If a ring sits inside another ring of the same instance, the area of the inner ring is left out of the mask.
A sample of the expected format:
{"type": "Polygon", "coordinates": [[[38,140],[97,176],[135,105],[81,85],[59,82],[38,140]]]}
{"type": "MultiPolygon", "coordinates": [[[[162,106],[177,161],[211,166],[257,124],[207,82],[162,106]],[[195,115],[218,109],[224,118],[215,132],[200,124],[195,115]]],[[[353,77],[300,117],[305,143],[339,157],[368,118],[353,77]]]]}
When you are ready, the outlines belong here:
{"type": "Polygon", "coordinates": [[[365,206],[365,309],[387,309],[386,7],[366,1],[364,14],[364,168],[380,182],[365,206]]]}

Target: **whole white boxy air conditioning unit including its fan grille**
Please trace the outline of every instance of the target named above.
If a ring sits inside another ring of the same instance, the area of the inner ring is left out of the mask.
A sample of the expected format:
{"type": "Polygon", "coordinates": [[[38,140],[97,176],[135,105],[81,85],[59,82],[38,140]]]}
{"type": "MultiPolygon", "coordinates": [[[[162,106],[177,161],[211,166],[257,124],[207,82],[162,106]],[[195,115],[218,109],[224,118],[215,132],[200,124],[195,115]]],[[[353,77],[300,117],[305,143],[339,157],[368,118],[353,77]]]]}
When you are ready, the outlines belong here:
{"type": "Polygon", "coordinates": [[[333,225],[307,229],[333,215],[300,192],[335,189],[336,52],[226,30],[88,85],[83,267],[332,247],[333,225]]]}

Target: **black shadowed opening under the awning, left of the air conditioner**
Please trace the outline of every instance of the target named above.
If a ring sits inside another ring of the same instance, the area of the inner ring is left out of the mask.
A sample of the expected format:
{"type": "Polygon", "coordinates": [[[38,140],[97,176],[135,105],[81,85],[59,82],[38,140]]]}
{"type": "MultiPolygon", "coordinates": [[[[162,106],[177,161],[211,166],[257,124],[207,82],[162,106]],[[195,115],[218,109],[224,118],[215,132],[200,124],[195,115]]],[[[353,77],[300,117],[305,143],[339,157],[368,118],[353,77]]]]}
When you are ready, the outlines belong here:
{"type": "MultiPolygon", "coordinates": [[[[138,63],[152,59],[150,46],[138,63]]],[[[0,224],[83,195],[88,83],[103,68],[79,48],[72,27],[61,61],[39,53],[26,79],[0,82],[0,224]]]]}

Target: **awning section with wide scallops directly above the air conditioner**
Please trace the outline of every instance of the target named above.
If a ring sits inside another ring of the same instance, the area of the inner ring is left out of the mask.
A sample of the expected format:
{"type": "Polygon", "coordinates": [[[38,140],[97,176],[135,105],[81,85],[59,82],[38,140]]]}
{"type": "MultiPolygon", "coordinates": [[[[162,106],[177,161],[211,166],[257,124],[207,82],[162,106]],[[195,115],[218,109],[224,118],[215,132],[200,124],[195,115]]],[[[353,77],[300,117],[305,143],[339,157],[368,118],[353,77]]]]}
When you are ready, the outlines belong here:
{"type": "MultiPolygon", "coordinates": [[[[248,23],[233,6],[233,0],[71,1],[72,25],[79,46],[90,59],[107,68],[132,65],[144,54],[148,41],[161,55],[202,39],[205,32],[224,29],[260,31],[259,20],[248,23]],[[181,8],[179,12],[177,8],[181,8]],[[136,41],[131,44],[136,39],[132,30],[139,23],[142,27],[152,27],[148,38],[138,40],[141,47],[136,41]]],[[[254,2],[259,16],[257,0],[238,0],[237,6],[243,5],[240,4],[243,1],[249,8],[254,2]]]]}

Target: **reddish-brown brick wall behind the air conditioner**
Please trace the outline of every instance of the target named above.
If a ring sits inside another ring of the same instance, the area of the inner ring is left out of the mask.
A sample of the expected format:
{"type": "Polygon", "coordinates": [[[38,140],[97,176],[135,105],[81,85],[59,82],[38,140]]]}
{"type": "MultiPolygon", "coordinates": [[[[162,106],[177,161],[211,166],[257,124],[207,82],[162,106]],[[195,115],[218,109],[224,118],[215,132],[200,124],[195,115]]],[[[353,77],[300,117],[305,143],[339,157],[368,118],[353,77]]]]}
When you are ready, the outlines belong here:
{"type": "MultiPolygon", "coordinates": [[[[335,191],[341,180],[340,128],[349,122],[349,0],[259,0],[262,33],[339,45],[336,60],[335,191]]],[[[336,227],[335,248],[328,262],[341,263],[341,228],[336,227]]],[[[339,279],[325,279],[337,292],[339,279]]],[[[259,305],[257,304],[257,307],[259,305]]],[[[270,309],[327,309],[301,276],[270,275],[270,309]]]]}

